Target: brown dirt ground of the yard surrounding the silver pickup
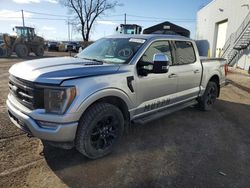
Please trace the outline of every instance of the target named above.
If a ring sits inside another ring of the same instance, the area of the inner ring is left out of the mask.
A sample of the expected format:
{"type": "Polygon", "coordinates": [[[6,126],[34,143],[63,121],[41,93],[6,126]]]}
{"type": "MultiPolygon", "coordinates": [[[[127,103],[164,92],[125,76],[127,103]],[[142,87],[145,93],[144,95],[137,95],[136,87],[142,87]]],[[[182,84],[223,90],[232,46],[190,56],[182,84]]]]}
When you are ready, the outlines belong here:
{"type": "MultiPolygon", "coordinates": [[[[47,57],[68,55],[47,53],[47,57]]],[[[32,59],[32,57],[31,57],[32,59]]],[[[0,187],[250,187],[250,76],[231,70],[214,110],[187,108],[134,125],[109,156],[44,147],[8,119],[0,59],[0,187]]]]}

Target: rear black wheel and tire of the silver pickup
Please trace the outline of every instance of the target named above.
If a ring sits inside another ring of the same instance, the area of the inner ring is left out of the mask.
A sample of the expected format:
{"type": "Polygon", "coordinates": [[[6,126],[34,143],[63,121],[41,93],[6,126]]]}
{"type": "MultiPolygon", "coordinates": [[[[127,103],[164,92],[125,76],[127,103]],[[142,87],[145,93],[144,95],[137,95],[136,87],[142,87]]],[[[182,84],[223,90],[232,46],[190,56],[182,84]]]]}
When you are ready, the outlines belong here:
{"type": "Polygon", "coordinates": [[[218,96],[218,92],[218,85],[213,81],[209,81],[204,94],[198,99],[201,110],[209,111],[212,109],[218,96]]]}

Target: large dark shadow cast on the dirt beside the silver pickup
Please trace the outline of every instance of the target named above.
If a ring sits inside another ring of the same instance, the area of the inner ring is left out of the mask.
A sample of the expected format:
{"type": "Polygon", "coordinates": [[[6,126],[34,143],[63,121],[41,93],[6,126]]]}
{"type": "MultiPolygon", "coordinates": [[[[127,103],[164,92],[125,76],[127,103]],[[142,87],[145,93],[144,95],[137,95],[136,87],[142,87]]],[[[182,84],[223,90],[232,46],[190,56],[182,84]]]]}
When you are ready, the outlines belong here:
{"type": "Polygon", "coordinates": [[[244,165],[250,161],[249,114],[248,104],[218,100],[213,111],[190,107],[132,126],[119,147],[98,160],[75,149],[45,146],[43,153],[69,187],[245,187],[250,173],[244,165]],[[222,178],[219,170],[230,176],[222,178]]]}

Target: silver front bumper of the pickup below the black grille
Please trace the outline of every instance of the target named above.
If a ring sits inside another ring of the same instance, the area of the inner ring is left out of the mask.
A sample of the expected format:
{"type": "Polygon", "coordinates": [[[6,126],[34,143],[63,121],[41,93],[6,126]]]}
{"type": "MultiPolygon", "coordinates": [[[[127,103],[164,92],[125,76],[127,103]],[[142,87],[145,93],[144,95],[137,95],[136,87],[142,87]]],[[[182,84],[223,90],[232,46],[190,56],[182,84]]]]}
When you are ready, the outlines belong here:
{"type": "MultiPolygon", "coordinates": [[[[53,126],[42,126],[38,121],[18,110],[8,99],[6,101],[10,120],[20,129],[37,138],[54,142],[74,141],[78,122],[54,123],[53,126]]],[[[44,120],[46,121],[46,120],[44,120]]]]}

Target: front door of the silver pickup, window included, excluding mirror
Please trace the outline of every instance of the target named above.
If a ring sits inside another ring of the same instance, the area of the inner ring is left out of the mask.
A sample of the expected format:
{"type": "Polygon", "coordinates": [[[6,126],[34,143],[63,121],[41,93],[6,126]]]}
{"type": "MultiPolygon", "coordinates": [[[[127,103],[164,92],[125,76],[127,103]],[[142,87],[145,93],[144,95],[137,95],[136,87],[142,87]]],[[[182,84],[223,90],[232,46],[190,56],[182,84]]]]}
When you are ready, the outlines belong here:
{"type": "MultiPolygon", "coordinates": [[[[172,64],[172,52],[170,43],[167,40],[153,42],[137,62],[135,78],[137,109],[135,114],[142,115],[150,111],[167,107],[174,101],[174,94],[177,91],[176,67],[169,68],[167,73],[142,75],[141,64],[153,63],[154,54],[165,54],[170,65],[172,64]]],[[[150,69],[150,66],[149,66],[150,69]]]]}

